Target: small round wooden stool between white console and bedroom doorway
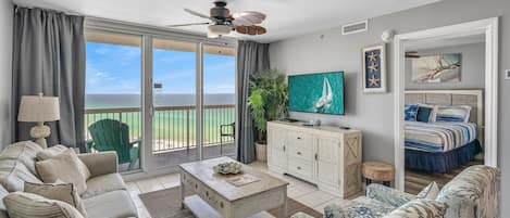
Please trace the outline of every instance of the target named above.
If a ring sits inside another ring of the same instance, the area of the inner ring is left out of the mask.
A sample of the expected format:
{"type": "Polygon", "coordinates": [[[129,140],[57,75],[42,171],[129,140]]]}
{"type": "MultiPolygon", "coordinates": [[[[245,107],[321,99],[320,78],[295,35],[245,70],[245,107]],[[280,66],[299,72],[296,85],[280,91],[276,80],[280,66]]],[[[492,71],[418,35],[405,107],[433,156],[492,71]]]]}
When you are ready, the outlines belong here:
{"type": "Polygon", "coordinates": [[[389,187],[395,178],[394,166],[381,162],[365,162],[361,167],[361,171],[366,180],[366,185],[372,183],[372,181],[380,181],[384,185],[389,187]]]}

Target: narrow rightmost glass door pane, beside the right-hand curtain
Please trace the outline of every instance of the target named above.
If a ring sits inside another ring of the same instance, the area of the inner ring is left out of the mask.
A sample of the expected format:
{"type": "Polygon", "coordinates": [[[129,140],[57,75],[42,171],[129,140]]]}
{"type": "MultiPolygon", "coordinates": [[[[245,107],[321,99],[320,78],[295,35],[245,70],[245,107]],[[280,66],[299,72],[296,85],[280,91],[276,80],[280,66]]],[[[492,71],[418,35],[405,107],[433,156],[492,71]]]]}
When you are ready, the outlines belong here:
{"type": "Polygon", "coordinates": [[[235,49],[203,46],[203,158],[234,157],[235,49]]]}

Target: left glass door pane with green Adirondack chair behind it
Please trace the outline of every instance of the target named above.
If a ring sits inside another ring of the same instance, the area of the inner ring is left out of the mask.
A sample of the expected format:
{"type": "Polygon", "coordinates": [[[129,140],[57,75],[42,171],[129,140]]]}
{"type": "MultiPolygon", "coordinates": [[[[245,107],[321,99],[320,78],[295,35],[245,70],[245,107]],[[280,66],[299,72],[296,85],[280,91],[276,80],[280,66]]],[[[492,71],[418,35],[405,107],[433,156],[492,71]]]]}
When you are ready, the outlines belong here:
{"type": "Polygon", "coordinates": [[[141,37],[86,34],[85,132],[88,152],[115,151],[120,171],[140,168],[141,37]]]}

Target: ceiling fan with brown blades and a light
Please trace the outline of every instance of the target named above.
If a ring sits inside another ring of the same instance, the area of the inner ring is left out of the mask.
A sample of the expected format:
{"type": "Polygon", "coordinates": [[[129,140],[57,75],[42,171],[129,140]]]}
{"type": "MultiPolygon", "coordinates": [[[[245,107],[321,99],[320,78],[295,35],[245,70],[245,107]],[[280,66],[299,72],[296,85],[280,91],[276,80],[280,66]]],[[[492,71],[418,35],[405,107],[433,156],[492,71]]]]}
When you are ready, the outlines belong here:
{"type": "Polygon", "coordinates": [[[217,38],[235,30],[245,35],[263,35],[266,29],[260,24],[265,20],[265,14],[256,11],[244,11],[231,14],[226,8],[226,1],[214,1],[214,8],[210,10],[210,15],[206,15],[189,9],[184,9],[191,15],[209,20],[209,22],[169,25],[167,27],[183,27],[196,25],[209,25],[208,37],[217,38]]]}

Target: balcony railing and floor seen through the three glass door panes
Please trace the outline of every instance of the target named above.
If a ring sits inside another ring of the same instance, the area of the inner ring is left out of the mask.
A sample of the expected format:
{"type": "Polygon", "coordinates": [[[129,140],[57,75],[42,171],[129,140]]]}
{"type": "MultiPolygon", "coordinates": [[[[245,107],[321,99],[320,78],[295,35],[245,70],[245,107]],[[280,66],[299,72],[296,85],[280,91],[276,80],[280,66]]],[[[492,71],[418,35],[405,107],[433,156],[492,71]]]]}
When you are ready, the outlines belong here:
{"type": "MultiPolygon", "coordinates": [[[[158,166],[174,166],[196,159],[196,107],[159,106],[154,108],[152,125],[152,156],[158,166]]],[[[129,141],[141,139],[141,113],[139,107],[90,108],[85,111],[86,128],[102,119],[115,119],[126,124],[129,141]]],[[[235,105],[204,105],[203,156],[235,156],[234,138],[226,134],[234,129],[235,105]],[[222,129],[223,125],[223,131],[222,129]],[[223,137],[222,137],[223,133],[223,137]]],[[[87,140],[91,140],[87,130],[87,140]]]]}

